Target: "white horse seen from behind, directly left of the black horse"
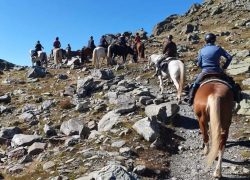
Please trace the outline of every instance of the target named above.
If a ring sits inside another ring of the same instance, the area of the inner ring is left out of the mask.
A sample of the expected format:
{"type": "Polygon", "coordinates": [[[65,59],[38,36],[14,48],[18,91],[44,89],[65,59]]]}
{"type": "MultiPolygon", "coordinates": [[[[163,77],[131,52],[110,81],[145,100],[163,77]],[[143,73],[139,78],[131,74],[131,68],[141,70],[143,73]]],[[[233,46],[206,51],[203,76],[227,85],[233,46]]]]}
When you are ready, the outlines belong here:
{"type": "Polygon", "coordinates": [[[96,47],[93,51],[93,58],[92,58],[92,64],[95,68],[99,68],[102,65],[102,61],[100,62],[101,58],[102,61],[106,59],[108,62],[108,57],[105,48],[96,47]]]}

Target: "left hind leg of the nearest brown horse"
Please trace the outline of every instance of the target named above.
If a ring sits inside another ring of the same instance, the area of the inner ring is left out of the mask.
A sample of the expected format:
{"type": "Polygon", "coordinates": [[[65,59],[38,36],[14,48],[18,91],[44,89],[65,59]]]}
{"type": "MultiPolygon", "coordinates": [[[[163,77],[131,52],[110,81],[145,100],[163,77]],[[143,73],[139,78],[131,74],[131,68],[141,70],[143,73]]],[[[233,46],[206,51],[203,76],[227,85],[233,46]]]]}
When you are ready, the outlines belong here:
{"type": "Polygon", "coordinates": [[[209,152],[209,136],[208,136],[208,124],[206,122],[206,117],[205,114],[202,114],[199,117],[199,126],[200,126],[200,130],[201,130],[201,134],[203,137],[203,142],[204,142],[204,155],[207,155],[209,152]]]}

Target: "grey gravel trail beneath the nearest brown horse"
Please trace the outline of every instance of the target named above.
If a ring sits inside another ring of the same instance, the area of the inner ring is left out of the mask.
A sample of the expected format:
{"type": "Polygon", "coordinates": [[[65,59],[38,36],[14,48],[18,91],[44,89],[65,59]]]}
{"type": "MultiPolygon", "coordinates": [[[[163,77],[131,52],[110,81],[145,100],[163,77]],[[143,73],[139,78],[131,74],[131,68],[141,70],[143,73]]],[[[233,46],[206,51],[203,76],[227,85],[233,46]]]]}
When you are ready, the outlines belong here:
{"type": "MultiPolygon", "coordinates": [[[[215,164],[206,172],[205,156],[202,148],[202,138],[199,133],[198,122],[193,110],[187,105],[181,105],[181,117],[174,122],[176,134],[183,138],[178,154],[170,158],[172,179],[177,180],[208,180],[213,179],[215,164]]],[[[226,144],[222,163],[222,179],[244,180],[250,179],[249,160],[249,120],[233,119],[230,135],[226,144]],[[246,136],[235,135],[245,132],[246,136]],[[245,157],[242,156],[244,155],[245,157]]]]}

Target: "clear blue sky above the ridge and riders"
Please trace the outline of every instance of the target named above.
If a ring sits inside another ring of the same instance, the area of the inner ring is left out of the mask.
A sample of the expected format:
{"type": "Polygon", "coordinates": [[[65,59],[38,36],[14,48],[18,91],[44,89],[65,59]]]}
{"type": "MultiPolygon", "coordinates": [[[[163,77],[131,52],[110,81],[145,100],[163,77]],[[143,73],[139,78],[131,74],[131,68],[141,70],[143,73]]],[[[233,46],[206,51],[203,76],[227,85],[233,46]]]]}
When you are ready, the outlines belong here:
{"type": "Polygon", "coordinates": [[[31,65],[29,50],[40,40],[46,53],[59,37],[62,48],[81,49],[94,36],[153,27],[183,15],[202,0],[0,0],[0,59],[31,65]]]}

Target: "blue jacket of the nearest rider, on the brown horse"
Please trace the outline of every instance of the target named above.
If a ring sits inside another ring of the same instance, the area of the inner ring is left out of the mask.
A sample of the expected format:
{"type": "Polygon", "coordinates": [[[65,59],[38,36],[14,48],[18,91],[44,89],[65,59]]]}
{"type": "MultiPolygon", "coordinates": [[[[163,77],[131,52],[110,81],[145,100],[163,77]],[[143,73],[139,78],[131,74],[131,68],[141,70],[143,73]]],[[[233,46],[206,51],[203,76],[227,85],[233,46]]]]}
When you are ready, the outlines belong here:
{"type": "Polygon", "coordinates": [[[227,69],[232,61],[232,56],[220,46],[207,44],[199,51],[197,64],[202,68],[202,72],[222,72],[220,68],[221,56],[226,58],[226,62],[222,69],[227,69]]]}

